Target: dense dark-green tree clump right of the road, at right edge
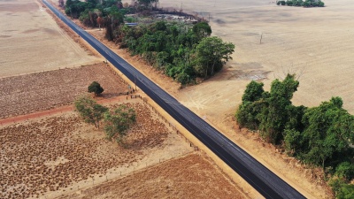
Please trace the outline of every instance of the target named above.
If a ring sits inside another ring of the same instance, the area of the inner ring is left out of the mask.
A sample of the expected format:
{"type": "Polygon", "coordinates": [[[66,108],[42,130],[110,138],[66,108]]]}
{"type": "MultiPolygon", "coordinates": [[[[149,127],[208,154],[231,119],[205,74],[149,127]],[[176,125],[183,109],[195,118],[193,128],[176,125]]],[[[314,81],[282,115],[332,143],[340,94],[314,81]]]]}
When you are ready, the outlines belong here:
{"type": "Polygon", "coordinates": [[[274,80],[270,92],[263,83],[251,81],[236,111],[238,124],[257,130],[266,142],[282,144],[290,156],[320,166],[338,198],[353,195],[354,116],[332,97],[318,107],[294,106],[291,98],[299,82],[295,75],[274,80]],[[350,191],[351,190],[351,191],[350,191]]]}

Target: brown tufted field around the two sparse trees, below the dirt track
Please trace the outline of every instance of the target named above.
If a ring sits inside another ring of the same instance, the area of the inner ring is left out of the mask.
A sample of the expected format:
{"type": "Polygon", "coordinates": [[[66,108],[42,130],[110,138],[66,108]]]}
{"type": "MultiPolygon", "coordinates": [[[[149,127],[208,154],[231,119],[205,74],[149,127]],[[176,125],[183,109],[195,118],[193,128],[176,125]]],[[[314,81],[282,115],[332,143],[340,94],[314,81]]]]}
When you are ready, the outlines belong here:
{"type": "Polygon", "coordinates": [[[189,143],[135,99],[127,149],[73,112],[0,127],[0,198],[52,198],[189,153],[189,143]]]}

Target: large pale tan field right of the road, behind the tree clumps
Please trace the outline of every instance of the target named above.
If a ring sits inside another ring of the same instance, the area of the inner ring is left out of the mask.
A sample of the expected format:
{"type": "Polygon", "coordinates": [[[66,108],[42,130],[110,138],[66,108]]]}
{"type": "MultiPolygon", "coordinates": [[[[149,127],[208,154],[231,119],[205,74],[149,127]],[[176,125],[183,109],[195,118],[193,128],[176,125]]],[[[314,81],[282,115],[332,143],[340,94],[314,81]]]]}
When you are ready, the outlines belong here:
{"type": "Polygon", "coordinates": [[[269,2],[160,1],[162,7],[182,6],[183,11],[196,12],[204,19],[210,16],[213,35],[236,46],[234,60],[223,73],[185,91],[181,101],[196,110],[207,111],[202,108],[204,105],[208,110],[218,106],[224,112],[241,102],[242,91],[250,80],[262,79],[267,73],[268,79],[263,81],[269,88],[274,78],[284,78],[289,72],[300,74],[295,104],[316,106],[331,96],[341,96],[344,108],[354,113],[354,96],[350,92],[354,88],[351,1],[327,0],[327,7],[314,9],[280,7],[269,2]],[[190,99],[203,101],[195,104],[190,99]]]}

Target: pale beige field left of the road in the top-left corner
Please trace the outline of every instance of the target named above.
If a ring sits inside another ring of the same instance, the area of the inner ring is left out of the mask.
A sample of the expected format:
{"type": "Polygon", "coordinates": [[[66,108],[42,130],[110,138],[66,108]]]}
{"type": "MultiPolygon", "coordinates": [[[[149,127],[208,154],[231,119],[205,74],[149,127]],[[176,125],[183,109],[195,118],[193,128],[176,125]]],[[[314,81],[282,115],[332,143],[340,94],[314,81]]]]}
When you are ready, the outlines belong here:
{"type": "Polygon", "coordinates": [[[0,77],[93,64],[35,0],[0,1],[0,77]]]}

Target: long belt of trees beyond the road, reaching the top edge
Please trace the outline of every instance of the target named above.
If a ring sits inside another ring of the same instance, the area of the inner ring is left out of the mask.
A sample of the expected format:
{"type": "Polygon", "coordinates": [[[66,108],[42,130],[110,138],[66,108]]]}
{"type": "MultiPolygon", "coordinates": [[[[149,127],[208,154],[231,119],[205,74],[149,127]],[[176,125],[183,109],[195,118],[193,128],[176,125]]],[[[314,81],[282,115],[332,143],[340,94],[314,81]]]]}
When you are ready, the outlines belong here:
{"type": "Polygon", "coordinates": [[[211,36],[212,28],[206,22],[190,25],[160,20],[135,27],[124,24],[136,20],[126,17],[127,13],[149,10],[154,2],[157,1],[141,0],[140,4],[123,6],[118,0],[106,0],[102,4],[96,0],[68,0],[65,13],[80,19],[85,26],[105,27],[109,41],[120,42],[121,48],[143,57],[181,84],[194,82],[196,77],[212,76],[232,58],[235,45],[211,36]]]}

